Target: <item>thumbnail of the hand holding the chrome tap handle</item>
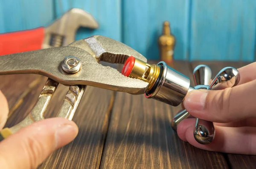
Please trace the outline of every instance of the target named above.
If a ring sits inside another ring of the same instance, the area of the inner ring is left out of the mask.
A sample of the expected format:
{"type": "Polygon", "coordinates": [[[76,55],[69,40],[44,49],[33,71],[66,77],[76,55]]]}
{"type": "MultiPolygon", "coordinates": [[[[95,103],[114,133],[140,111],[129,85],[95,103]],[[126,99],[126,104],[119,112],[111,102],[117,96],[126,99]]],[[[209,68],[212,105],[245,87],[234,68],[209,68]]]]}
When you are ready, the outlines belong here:
{"type": "Polygon", "coordinates": [[[207,95],[207,90],[193,90],[189,92],[184,100],[186,110],[203,110],[207,95]]]}

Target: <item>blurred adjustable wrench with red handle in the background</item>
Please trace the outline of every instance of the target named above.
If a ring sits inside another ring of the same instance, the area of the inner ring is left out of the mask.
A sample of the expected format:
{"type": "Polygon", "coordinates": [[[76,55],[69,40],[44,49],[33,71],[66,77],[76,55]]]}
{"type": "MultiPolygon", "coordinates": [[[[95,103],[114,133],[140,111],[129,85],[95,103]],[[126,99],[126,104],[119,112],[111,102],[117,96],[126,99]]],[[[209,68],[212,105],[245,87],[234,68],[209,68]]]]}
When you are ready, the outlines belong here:
{"type": "Polygon", "coordinates": [[[73,8],[47,27],[0,34],[0,55],[67,46],[75,41],[79,27],[96,29],[96,20],[88,12],[73,8]]]}

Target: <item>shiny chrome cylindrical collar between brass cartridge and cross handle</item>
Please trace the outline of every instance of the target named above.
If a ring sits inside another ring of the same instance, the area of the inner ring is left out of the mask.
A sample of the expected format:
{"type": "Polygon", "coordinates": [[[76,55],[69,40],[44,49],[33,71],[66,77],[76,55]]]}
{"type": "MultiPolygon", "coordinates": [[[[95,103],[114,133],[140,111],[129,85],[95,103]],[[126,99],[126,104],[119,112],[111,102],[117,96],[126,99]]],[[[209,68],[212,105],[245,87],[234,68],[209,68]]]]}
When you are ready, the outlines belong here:
{"type": "Polygon", "coordinates": [[[178,106],[189,90],[189,77],[170,68],[164,62],[159,62],[157,65],[163,67],[163,74],[159,74],[161,76],[160,83],[158,83],[154,92],[146,92],[145,97],[178,106]]]}

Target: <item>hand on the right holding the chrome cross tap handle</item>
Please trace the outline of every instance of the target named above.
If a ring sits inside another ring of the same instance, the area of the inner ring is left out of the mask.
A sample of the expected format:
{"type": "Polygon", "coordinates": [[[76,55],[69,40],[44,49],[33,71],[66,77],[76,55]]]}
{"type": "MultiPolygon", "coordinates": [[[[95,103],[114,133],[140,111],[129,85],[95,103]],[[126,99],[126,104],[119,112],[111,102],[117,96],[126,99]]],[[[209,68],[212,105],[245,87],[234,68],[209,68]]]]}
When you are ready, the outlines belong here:
{"type": "Polygon", "coordinates": [[[256,155],[256,62],[238,70],[237,86],[223,90],[193,90],[183,101],[190,115],[214,122],[212,143],[202,145],[195,140],[195,118],[178,124],[177,134],[181,140],[209,151],[256,155]]]}

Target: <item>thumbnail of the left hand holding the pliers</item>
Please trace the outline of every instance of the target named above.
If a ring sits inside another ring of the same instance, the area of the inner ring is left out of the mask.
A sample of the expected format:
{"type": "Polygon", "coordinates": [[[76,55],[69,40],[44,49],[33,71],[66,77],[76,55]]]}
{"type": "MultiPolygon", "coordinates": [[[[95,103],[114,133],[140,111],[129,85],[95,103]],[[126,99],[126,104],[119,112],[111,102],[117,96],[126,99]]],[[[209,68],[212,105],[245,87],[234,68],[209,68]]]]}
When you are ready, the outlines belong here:
{"type": "Polygon", "coordinates": [[[70,143],[76,137],[78,129],[70,124],[60,126],[55,132],[56,148],[70,143]]]}

